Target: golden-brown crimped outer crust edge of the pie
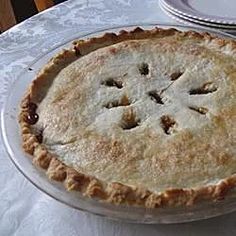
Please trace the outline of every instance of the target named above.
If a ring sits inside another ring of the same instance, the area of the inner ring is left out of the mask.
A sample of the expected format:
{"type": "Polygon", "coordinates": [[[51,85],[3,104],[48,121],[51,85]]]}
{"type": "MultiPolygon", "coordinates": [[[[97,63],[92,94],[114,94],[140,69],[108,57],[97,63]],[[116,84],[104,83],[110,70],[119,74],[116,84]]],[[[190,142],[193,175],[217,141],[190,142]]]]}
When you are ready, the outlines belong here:
{"type": "MultiPolygon", "coordinates": [[[[216,38],[208,33],[180,32],[175,29],[155,28],[152,30],[143,30],[136,28],[130,32],[121,31],[119,34],[106,33],[102,37],[78,40],[74,42],[72,49],[64,50],[50,60],[28,89],[22,101],[19,115],[23,149],[32,156],[34,164],[46,170],[49,179],[63,182],[67,190],[80,191],[88,197],[96,197],[102,201],[114,204],[125,203],[146,208],[192,205],[199,200],[219,200],[223,199],[228,192],[236,187],[236,174],[222,179],[216,184],[192,189],[167,189],[161,193],[155,193],[141,187],[130,187],[121,183],[106,183],[91,175],[80,173],[59,161],[57,157],[51,154],[44,144],[40,142],[40,139],[32,131],[32,125],[27,122],[30,103],[37,103],[37,101],[44,96],[44,94],[41,93],[41,88],[48,86],[49,78],[55,76],[61,68],[67,66],[74,60],[99,48],[122,41],[152,37],[164,38],[174,35],[184,38],[196,38],[203,42],[206,41],[214,50],[218,50],[219,52],[224,50],[227,51],[232,58],[236,57],[236,42],[233,40],[216,38]]],[[[233,78],[236,80],[236,72],[233,78]]],[[[235,91],[235,87],[233,89],[235,91]]],[[[200,110],[199,112],[204,113],[205,111],[200,110]]],[[[225,115],[227,116],[227,114],[225,115]]],[[[231,115],[235,115],[235,112],[232,111],[231,115]]],[[[165,118],[163,118],[163,120],[164,122],[171,123],[170,120],[165,120],[165,118]]]]}

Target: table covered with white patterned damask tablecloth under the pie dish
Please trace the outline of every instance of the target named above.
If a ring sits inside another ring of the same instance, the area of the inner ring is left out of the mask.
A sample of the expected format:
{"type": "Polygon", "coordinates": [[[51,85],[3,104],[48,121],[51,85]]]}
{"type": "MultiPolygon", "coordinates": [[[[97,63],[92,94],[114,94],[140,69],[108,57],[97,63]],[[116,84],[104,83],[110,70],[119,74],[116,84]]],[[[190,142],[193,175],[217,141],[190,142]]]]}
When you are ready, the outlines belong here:
{"type": "MultiPolygon", "coordinates": [[[[158,0],[69,0],[0,36],[0,107],[23,68],[66,35],[140,22],[174,23],[158,0]]],[[[28,182],[0,139],[0,235],[236,235],[236,213],[179,225],[135,225],[83,213],[53,200],[28,182]]]]}

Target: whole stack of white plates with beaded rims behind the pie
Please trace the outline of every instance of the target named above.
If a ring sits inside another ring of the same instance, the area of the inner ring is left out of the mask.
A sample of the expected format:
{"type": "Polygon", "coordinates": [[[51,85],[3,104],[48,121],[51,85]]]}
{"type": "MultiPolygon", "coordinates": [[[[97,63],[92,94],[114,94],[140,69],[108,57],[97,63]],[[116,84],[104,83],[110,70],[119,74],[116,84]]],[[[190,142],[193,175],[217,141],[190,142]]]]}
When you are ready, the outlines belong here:
{"type": "Polygon", "coordinates": [[[236,0],[159,0],[162,10],[181,23],[236,33],[236,0]]]}

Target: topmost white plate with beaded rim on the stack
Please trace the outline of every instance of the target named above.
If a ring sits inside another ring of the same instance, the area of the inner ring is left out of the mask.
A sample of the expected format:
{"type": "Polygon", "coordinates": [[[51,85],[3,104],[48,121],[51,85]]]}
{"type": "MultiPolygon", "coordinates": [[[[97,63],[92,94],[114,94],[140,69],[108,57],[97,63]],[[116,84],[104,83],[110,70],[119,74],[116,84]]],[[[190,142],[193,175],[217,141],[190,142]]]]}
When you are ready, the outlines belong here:
{"type": "Polygon", "coordinates": [[[235,0],[163,0],[168,8],[201,21],[236,25],[235,0]]]}

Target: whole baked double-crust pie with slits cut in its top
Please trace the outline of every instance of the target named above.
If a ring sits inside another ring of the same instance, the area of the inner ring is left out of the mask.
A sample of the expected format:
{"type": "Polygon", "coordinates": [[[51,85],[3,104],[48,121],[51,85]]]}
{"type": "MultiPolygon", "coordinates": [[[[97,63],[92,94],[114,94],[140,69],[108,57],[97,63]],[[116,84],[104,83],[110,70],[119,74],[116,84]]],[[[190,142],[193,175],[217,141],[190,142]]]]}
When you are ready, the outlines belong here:
{"type": "Polygon", "coordinates": [[[78,40],[20,108],[51,180],[113,204],[218,201],[236,187],[236,41],[154,28],[78,40]]]}

